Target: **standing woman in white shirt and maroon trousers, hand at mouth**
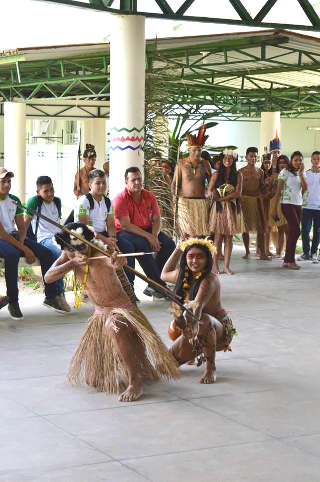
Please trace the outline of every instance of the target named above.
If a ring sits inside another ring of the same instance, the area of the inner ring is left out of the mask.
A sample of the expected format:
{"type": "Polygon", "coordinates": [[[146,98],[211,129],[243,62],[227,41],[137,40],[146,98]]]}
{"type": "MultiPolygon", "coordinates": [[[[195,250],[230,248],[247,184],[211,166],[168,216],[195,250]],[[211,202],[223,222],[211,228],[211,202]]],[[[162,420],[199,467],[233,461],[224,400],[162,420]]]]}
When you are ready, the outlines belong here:
{"type": "MultiPolygon", "coordinates": [[[[276,206],[281,196],[281,211],[288,221],[287,244],[283,267],[299,270],[295,263],[295,247],[300,235],[302,213],[302,190],[308,188],[304,172],[303,156],[300,151],[291,154],[289,167],[282,169],[278,177],[272,217],[277,216],[276,206]]],[[[276,220],[276,219],[275,219],[276,220]]]]}

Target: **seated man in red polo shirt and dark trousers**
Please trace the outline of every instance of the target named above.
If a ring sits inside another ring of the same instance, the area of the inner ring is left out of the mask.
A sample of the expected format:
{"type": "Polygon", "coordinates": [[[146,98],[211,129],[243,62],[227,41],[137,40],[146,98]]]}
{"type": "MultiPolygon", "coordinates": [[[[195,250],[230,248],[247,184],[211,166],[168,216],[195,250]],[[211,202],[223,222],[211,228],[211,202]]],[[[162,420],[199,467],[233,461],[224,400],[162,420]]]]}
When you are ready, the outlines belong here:
{"type": "MultiPolygon", "coordinates": [[[[132,252],[157,253],[141,256],[139,263],[151,280],[166,286],[160,278],[163,267],[175,250],[175,243],[161,231],[161,216],[154,194],[143,189],[141,172],[129,167],[124,173],[126,187],[112,201],[118,237],[132,245],[132,252]]],[[[143,293],[161,299],[164,295],[148,286],[143,293]]]]}

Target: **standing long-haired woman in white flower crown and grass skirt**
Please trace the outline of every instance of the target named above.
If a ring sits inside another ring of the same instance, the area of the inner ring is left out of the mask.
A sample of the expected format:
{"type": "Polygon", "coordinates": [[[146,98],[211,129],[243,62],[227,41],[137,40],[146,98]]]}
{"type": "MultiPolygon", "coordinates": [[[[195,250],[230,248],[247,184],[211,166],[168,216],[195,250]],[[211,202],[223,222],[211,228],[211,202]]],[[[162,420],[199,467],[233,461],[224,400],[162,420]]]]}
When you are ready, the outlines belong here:
{"type": "Polygon", "coordinates": [[[233,275],[229,264],[232,253],[232,236],[244,230],[240,207],[242,192],[242,174],[237,172],[238,155],[234,151],[225,150],[220,154],[221,165],[210,179],[208,197],[214,202],[209,216],[209,229],[215,233],[214,273],[220,274],[218,260],[221,256],[224,239],[223,273],[233,275]]]}

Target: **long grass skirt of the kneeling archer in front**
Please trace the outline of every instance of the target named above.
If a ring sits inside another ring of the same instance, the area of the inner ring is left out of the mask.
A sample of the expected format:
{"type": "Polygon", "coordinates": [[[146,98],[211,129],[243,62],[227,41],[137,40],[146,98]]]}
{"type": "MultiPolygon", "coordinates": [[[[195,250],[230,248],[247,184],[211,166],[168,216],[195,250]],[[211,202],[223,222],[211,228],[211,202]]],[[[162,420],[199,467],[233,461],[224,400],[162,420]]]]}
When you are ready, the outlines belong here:
{"type": "Polygon", "coordinates": [[[127,329],[131,333],[130,343],[141,377],[151,380],[180,378],[178,364],[162,339],[137,306],[131,305],[114,308],[108,313],[95,313],[89,318],[69,365],[69,382],[77,384],[85,380],[87,385],[106,393],[120,393],[124,383],[128,385],[125,366],[105,328],[106,322],[115,331],[127,329]]]}

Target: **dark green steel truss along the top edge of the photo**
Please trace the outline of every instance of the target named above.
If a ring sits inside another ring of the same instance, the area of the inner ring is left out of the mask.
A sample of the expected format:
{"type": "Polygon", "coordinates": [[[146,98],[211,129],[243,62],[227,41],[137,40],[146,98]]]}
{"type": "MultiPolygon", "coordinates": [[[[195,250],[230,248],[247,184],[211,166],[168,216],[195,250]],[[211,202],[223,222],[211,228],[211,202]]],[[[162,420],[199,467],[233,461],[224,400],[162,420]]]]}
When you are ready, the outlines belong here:
{"type": "Polygon", "coordinates": [[[309,30],[320,32],[320,19],[316,14],[315,10],[308,2],[308,0],[296,0],[305,15],[307,16],[311,25],[303,24],[288,24],[283,20],[283,22],[263,22],[266,15],[270,12],[272,7],[277,3],[278,0],[265,0],[263,7],[260,9],[258,14],[252,18],[248,13],[244,5],[240,0],[229,0],[230,4],[234,8],[234,11],[238,14],[239,20],[235,19],[220,19],[205,16],[205,8],[203,12],[199,12],[197,16],[188,16],[186,12],[194,4],[195,0],[181,0],[181,6],[174,12],[170,7],[169,2],[166,0],[148,0],[149,4],[154,6],[157,5],[161,9],[161,13],[153,13],[152,11],[141,12],[137,10],[137,0],[120,0],[120,7],[112,7],[113,0],[89,0],[89,3],[79,2],[78,0],[38,0],[38,2],[47,2],[51,4],[60,4],[72,7],[78,7],[82,9],[91,9],[100,12],[106,12],[111,14],[121,14],[121,15],[143,15],[147,18],[153,19],[165,19],[165,20],[176,20],[176,21],[190,21],[190,22],[206,22],[206,23],[216,23],[216,24],[229,24],[229,25],[240,25],[247,27],[259,27],[259,28],[274,28],[274,29],[290,29],[290,30],[309,30]],[[202,15],[204,14],[204,15],[202,15]]]}

